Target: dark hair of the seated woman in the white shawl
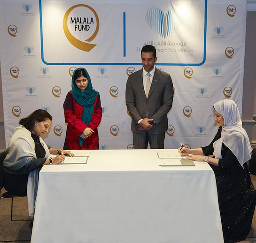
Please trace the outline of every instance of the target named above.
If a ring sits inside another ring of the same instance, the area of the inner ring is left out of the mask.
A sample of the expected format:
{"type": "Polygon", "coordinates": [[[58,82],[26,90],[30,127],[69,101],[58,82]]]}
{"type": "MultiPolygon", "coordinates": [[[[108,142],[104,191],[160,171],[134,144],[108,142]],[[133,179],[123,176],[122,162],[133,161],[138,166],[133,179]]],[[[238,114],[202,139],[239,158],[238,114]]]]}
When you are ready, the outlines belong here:
{"type": "Polygon", "coordinates": [[[20,125],[23,125],[24,128],[32,131],[35,121],[41,122],[47,119],[53,120],[53,117],[45,110],[38,109],[31,113],[29,116],[22,118],[19,122],[20,125]]]}

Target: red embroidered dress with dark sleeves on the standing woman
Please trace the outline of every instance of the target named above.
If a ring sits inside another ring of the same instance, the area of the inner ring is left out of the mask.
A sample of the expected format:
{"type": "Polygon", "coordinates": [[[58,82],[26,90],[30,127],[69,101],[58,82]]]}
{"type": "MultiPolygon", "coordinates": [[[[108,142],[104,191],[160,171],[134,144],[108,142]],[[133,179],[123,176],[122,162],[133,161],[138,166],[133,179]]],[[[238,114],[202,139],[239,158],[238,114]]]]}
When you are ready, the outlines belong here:
{"type": "Polygon", "coordinates": [[[100,94],[96,97],[93,115],[90,123],[85,124],[82,119],[83,106],[79,105],[69,91],[63,104],[65,122],[68,123],[66,139],[63,149],[99,149],[99,135],[97,127],[101,122],[100,94]],[[83,146],[79,146],[78,137],[85,128],[93,129],[93,135],[85,139],[83,146]]]}

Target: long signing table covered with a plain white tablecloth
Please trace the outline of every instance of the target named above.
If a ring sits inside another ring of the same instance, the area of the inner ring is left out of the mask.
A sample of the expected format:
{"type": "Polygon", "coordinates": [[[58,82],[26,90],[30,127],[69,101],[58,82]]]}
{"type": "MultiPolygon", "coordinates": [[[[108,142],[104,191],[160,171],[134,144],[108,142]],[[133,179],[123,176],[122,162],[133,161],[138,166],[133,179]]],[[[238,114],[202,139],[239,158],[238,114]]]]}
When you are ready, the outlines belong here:
{"type": "Polygon", "coordinates": [[[44,166],[31,243],[223,243],[208,163],[162,167],[160,151],[94,150],[85,165],[44,166]]]}

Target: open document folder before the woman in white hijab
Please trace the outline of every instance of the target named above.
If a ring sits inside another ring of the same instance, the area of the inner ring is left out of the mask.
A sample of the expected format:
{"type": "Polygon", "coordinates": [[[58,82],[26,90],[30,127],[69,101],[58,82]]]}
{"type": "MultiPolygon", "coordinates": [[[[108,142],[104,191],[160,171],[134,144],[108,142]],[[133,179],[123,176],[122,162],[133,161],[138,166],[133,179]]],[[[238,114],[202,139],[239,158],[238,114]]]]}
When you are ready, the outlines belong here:
{"type": "Polygon", "coordinates": [[[179,153],[157,152],[159,166],[194,166],[193,160],[179,153]]]}

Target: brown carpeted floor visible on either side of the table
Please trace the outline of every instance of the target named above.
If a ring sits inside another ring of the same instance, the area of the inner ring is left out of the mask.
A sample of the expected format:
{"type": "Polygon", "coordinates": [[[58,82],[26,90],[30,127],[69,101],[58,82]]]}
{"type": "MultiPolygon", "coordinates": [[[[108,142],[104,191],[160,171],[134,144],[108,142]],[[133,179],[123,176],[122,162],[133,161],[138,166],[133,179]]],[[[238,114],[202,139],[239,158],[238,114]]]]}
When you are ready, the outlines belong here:
{"type": "MultiPolygon", "coordinates": [[[[256,176],[251,176],[252,182],[256,188],[256,176]]],[[[28,205],[26,197],[14,199],[14,219],[29,219],[28,205]]],[[[18,243],[30,242],[31,229],[30,221],[11,221],[11,199],[0,200],[0,241],[19,240],[18,243]]],[[[182,242],[181,242],[182,243],[182,242]]],[[[245,241],[240,243],[256,243],[256,211],[254,213],[252,228],[245,241]]]]}

